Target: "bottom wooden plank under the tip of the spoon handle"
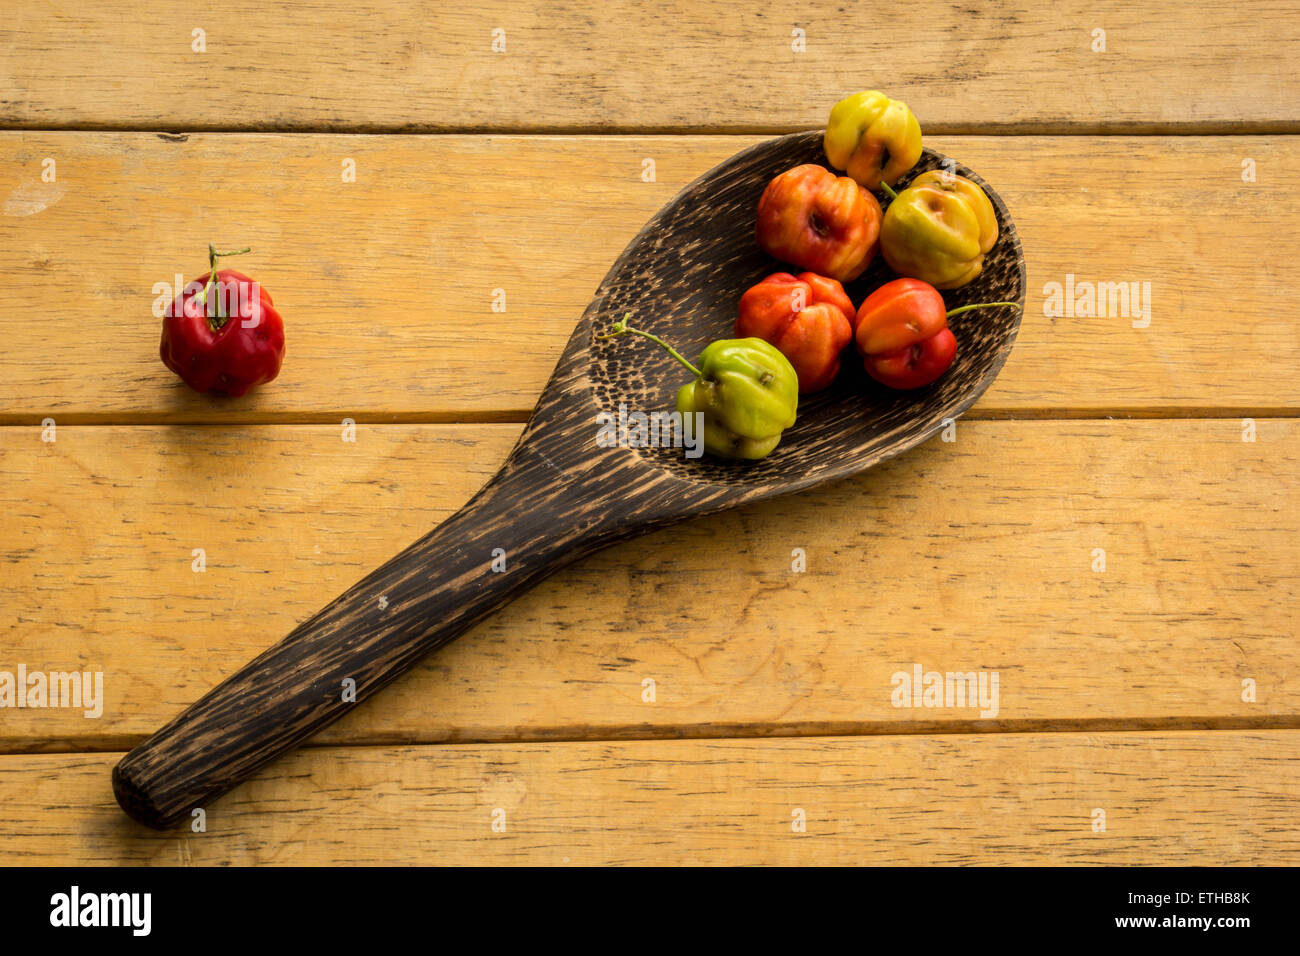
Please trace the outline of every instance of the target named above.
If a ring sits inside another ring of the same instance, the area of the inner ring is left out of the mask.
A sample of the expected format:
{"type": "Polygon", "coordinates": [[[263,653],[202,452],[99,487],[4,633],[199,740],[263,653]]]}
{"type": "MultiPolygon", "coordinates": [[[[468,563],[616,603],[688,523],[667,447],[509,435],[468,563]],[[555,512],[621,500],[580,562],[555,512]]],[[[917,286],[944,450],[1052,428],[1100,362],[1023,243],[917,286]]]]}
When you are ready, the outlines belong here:
{"type": "Polygon", "coordinates": [[[126,819],[107,787],[114,754],[4,756],[0,862],[1295,865],[1297,743],[1271,731],[309,749],[205,808],[202,834],[126,819]]]}

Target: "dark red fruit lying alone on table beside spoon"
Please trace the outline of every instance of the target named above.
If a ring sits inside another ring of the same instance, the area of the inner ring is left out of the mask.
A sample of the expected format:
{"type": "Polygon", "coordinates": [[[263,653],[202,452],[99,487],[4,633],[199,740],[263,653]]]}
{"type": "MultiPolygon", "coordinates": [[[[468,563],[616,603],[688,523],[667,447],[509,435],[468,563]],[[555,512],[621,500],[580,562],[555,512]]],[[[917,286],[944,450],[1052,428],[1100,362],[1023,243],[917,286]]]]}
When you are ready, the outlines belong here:
{"type": "Polygon", "coordinates": [[[280,375],[285,321],[261,284],[234,269],[208,246],[211,272],[186,285],[162,319],[162,364],[195,392],[242,395],[280,375]],[[196,287],[200,286],[200,287],[196,287]]]}

